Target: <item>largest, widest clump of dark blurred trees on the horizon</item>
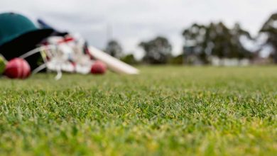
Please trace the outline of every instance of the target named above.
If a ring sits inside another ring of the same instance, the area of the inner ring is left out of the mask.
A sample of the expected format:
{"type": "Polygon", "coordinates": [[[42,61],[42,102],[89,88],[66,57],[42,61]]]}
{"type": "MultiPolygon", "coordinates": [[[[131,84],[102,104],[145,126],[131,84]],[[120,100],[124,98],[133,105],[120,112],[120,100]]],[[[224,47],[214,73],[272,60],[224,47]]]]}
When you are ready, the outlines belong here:
{"type": "Polygon", "coordinates": [[[241,37],[251,39],[251,35],[238,23],[229,29],[224,23],[210,23],[208,26],[193,24],[183,31],[185,38],[184,54],[196,56],[202,63],[208,63],[209,56],[219,58],[251,57],[251,52],[244,48],[241,37]]]}

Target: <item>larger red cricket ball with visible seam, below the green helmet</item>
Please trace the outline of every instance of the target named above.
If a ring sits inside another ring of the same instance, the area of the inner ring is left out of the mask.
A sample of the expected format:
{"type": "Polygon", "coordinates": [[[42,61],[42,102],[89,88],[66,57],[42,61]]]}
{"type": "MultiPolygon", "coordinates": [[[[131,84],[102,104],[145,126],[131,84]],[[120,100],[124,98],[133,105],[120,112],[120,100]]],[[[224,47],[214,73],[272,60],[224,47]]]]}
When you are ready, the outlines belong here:
{"type": "Polygon", "coordinates": [[[11,79],[26,79],[31,74],[31,67],[26,60],[14,58],[6,64],[4,74],[11,79]]]}

